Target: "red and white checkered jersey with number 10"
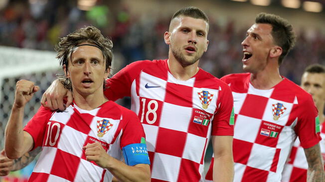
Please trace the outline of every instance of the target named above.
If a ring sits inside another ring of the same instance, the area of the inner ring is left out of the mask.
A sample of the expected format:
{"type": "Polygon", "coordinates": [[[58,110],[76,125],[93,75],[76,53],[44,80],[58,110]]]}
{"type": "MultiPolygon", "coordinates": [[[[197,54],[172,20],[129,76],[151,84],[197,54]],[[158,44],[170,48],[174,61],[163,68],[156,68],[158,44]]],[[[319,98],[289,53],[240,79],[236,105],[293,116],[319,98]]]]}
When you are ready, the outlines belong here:
{"type": "Polygon", "coordinates": [[[34,140],[33,149],[42,146],[30,182],[111,182],[112,174],[88,162],[82,147],[100,142],[109,155],[122,160],[121,149],[145,137],[137,115],[112,101],[91,111],[75,104],[63,112],[41,106],[24,130],[34,140]]]}

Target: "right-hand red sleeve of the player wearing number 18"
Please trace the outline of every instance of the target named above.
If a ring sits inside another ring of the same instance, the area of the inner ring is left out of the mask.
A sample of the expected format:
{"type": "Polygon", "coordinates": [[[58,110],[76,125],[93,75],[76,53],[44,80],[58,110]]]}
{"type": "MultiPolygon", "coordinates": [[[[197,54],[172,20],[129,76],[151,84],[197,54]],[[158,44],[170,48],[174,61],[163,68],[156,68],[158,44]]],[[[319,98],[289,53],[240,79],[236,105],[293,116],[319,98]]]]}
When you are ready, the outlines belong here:
{"type": "Polygon", "coordinates": [[[219,108],[212,121],[212,133],[214,136],[233,136],[234,135],[234,111],[233,97],[229,86],[222,84],[217,106],[219,108]]]}

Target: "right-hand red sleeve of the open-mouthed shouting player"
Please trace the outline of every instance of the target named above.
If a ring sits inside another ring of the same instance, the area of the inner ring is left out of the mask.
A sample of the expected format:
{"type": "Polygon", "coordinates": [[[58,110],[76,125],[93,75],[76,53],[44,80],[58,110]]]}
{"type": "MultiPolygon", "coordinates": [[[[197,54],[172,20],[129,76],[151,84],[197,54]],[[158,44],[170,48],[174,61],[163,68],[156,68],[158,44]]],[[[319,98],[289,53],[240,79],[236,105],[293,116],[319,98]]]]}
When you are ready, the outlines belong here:
{"type": "Polygon", "coordinates": [[[295,132],[299,137],[301,146],[305,149],[315,146],[322,139],[320,136],[320,123],[318,120],[318,111],[311,95],[296,105],[298,112],[298,122],[295,132]]]}

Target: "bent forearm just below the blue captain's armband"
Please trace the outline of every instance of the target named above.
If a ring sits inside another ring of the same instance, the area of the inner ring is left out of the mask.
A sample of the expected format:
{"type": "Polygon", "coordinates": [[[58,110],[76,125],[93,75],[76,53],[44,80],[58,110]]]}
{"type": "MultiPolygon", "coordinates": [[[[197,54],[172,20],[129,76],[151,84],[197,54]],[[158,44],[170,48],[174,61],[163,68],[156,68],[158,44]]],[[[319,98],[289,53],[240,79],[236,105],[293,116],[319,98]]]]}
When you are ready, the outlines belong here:
{"type": "Polygon", "coordinates": [[[108,169],[120,182],[150,182],[149,165],[128,166],[125,163],[111,157],[108,169]]]}

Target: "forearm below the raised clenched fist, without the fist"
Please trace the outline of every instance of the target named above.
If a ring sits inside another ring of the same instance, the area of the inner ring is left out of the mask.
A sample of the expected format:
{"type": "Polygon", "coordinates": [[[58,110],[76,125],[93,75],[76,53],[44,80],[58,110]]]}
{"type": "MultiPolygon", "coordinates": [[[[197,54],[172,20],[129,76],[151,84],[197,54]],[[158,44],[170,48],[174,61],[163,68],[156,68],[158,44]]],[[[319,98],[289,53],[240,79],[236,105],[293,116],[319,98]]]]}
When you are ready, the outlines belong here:
{"type": "Polygon", "coordinates": [[[13,106],[5,128],[5,153],[9,159],[17,159],[23,154],[23,112],[23,107],[13,106]]]}

